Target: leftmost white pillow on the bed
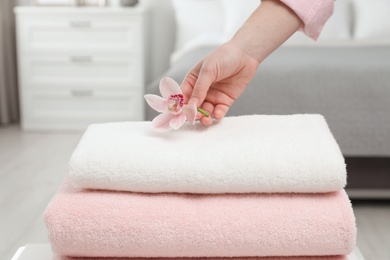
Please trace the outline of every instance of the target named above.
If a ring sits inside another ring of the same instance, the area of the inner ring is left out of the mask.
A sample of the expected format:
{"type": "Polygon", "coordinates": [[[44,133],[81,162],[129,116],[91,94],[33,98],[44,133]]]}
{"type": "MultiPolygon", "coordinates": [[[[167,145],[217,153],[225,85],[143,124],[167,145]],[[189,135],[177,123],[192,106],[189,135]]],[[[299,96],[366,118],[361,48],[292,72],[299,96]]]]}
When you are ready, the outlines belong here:
{"type": "Polygon", "coordinates": [[[175,50],[205,33],[222,34],[223,0],[172,0],[176,18],[175,50]]]}

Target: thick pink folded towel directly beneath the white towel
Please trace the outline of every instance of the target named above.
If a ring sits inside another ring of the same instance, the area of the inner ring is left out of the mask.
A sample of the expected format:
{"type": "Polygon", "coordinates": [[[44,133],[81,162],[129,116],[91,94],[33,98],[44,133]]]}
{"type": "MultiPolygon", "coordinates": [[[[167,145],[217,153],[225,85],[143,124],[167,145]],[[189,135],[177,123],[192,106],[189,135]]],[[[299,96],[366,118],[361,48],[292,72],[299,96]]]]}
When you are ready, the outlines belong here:
{"type": "Polygon", "coordinates": [[[355,245],[344,190],[178,194],[77,190],[45,211],[53,252],[89,257],[347,255],[355,245]]]}

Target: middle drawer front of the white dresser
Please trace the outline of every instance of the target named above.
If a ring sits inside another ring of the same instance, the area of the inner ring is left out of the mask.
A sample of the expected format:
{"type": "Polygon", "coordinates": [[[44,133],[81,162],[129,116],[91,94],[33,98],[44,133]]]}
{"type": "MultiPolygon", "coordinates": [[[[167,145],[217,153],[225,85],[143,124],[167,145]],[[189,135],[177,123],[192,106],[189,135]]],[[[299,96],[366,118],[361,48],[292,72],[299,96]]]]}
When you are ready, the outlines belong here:
{"type": "Polygon", "coordinates": [[[134,89],[143,86],[142,59],[124,56],[57,55],[27,56],[22,61],[23,86],[27,89],[95,87],[134,89]]]}

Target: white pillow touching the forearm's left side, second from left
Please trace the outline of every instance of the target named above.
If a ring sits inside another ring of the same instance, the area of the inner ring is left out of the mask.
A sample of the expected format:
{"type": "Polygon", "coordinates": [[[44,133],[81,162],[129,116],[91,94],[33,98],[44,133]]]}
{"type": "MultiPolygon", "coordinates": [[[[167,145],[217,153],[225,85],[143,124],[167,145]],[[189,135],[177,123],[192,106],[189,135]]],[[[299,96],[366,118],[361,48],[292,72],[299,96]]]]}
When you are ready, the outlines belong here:
{"type": "Polygon", "coordinates": [[[260,5],[260,0],[222,0],[225,14],[224,36],[230,40],[240,29],[253,11],[260,5]]]}

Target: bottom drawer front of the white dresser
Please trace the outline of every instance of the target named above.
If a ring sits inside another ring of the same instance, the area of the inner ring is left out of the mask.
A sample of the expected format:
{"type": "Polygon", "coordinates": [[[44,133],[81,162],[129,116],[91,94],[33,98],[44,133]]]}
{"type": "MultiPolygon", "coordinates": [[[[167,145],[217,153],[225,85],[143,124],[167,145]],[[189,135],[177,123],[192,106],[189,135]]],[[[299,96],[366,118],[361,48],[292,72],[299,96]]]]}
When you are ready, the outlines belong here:
{"type": "Polygon", "coordinates": [[[81,129],[92,123],[143,120],[141,92],[26,91],[22,123],[32,129],[81,129]]]}

